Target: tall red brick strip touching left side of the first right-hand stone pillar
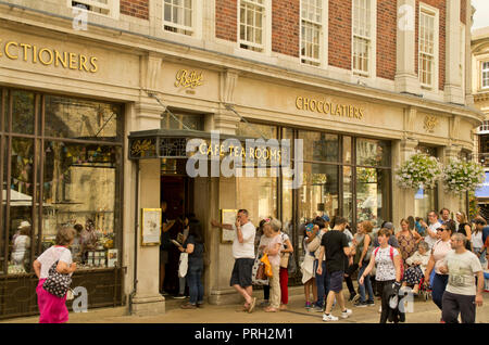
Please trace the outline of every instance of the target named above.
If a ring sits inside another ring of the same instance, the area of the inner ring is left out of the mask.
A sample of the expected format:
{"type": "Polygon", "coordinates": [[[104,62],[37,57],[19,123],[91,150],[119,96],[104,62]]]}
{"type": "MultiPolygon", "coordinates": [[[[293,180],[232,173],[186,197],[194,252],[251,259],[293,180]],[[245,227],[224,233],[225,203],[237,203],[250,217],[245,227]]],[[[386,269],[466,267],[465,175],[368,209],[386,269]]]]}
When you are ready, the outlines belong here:
{"type": "Polygon", "coordinates": [[[393,80],[397,60],[397,4],[377,0],[377,77],[393,80]]]}

